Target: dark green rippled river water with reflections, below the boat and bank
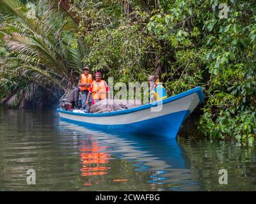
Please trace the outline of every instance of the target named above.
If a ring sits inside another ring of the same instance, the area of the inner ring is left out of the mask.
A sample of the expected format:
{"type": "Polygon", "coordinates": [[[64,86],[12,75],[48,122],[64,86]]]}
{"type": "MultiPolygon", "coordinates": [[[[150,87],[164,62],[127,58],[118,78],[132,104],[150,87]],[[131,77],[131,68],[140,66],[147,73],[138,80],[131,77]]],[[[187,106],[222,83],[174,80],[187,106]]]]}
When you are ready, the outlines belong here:
{"type": "Polygon", "coordinates": [[[255,191],[255,153],[254,144],[111,135],[51,110],[0,109],[0,191],[255,191]]]}

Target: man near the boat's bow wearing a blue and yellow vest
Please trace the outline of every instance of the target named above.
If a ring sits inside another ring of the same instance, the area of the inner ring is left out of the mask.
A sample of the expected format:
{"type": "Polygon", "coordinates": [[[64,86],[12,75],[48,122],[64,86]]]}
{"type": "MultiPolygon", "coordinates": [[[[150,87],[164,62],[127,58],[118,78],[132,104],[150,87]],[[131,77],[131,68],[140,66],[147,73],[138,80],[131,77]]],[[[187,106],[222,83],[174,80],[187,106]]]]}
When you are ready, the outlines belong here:
{"type": "Polygon", "coordinates": [[[166,89],[163,87],[163,83],[156,82],[155,75],[150,75],[148,77],[148,84],[150,85],[150,103],[167,98],[166,89]]]}

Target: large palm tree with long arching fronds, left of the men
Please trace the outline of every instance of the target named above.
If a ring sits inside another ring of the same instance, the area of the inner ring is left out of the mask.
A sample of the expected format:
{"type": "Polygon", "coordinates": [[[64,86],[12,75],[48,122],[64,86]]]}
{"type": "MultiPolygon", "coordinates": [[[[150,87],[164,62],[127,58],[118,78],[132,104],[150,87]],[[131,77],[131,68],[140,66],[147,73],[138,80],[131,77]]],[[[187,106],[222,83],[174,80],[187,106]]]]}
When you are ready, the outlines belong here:
{"type": "MultiPolygon", "coordinates": [[[[77,22],[70,13],[59,9],[58,1],[47,0],[39,2],[33,18],[17,0],[0,0],[0,11],[6,13],[0,35],[10,52],[0,64],[0,78],[22,77],[47,91],[72,88],[83,67],[86,47],[74,34],[77,22]]],[[[0,89],[1,83],[3,80],[0,89]]],[[[19,85],[14,91],[20,91],[19,85]]]]}

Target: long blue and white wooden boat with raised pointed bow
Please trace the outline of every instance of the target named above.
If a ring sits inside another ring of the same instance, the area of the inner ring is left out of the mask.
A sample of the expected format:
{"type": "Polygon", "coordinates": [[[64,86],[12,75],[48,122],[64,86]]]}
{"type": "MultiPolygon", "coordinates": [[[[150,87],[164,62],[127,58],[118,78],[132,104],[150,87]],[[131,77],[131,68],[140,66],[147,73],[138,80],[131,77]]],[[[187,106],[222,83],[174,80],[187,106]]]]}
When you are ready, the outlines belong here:
{"type": "Polygon", "coordinates": [[[74,113],[58,109],[61,120],[90,129],[175,138],[182,122],[204,100],[201,87],[135,108],[108,113],[74,113]]]}

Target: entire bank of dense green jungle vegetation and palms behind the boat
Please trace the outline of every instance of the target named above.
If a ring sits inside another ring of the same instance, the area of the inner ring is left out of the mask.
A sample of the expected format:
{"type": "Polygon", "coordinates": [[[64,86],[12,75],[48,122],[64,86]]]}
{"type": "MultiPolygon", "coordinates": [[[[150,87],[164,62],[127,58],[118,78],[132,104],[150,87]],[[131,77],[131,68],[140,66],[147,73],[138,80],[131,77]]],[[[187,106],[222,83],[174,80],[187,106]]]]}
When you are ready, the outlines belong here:
{"type": "Polygon", "coordinates": [[[58,101],[84,65],[116,82],[154,73],[169,96],[204,89],[198,133],[252,142],[255,45],[253,0],[0,0],[0,99],[58,101]]]}

